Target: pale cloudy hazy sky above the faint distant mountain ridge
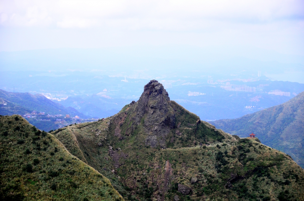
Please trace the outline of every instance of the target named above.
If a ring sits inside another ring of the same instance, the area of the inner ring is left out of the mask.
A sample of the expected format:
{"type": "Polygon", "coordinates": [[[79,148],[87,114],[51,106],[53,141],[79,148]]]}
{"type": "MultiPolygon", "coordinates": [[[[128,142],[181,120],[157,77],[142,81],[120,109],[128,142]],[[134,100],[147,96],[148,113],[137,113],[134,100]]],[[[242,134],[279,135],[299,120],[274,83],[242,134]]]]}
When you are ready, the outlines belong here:
{"type": "Polygon", "coordinates": [[[0,1],[0,51],[248,46],[304,56],[304,1],[0,1]]]}

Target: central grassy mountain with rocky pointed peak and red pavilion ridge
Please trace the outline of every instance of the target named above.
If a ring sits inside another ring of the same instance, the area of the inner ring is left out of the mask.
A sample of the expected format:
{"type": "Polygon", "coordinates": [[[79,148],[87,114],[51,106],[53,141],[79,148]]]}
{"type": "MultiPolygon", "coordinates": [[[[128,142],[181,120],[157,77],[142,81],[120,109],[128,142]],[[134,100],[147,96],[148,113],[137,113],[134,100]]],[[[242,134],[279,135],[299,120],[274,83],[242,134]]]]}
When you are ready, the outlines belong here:
{"type": "Polygon", "coordinates": [[[156,80],[118,114],[52,134],[127,200],[304,199],[288,155],[200,121],[156,80]]]}

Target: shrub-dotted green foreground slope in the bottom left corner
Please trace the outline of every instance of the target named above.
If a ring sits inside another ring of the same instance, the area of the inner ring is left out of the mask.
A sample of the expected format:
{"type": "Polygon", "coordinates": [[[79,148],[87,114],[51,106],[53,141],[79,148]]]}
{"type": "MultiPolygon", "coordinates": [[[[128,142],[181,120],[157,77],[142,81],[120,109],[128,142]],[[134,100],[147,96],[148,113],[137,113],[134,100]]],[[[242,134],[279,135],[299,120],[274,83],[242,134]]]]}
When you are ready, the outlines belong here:
{"type": "Polygon", "coordinates": [[[0,116],[1,200],[123,200],[107,178],[21,116],[0,116]]]}

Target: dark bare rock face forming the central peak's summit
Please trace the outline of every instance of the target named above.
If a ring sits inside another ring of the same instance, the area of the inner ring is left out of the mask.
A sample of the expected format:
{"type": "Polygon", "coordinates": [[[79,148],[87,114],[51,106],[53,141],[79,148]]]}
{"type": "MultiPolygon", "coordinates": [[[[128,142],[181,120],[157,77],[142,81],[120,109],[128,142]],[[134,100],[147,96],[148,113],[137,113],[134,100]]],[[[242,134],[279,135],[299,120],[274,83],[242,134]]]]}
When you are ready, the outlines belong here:
{"type": "Polygon", "coordinates": [[[165,137],[170,128],[175,126],[175,115],[163,85],[157,80],[151,80],[146,84],[134,111],[137,125],[144,117],[145,132],[149,135],[145,140],[146,145],[154,147],[159,143],[164,147],[165,137]]]}

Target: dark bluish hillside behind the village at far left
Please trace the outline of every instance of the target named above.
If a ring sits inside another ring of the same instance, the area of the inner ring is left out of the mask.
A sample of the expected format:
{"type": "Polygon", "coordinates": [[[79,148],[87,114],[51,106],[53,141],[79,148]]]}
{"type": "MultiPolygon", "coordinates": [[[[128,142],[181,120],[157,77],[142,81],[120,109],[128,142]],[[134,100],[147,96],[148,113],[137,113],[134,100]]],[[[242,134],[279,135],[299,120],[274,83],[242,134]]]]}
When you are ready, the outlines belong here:
{"type": "MultiPolygon", "coordinates": [[[[73,107],[64,107],[59,103],[55,103],[41,94],[30,93],[12,93],[0,89],[1,100],[7,102],[7,105],[1,104],[1,115],[24,114],[31,111],[43,111],[46,114],[70,114],[78,115],[81,118],[89,118],[88,116],[78,112],[73,107]]],[[[92,118],[92,117],[91,117],[92,118]]]]}

